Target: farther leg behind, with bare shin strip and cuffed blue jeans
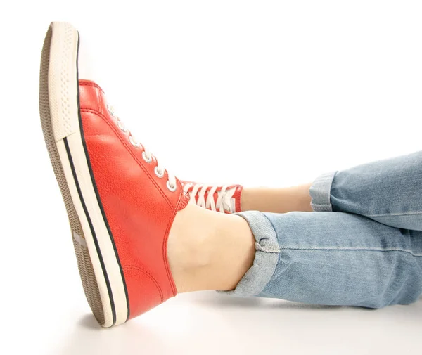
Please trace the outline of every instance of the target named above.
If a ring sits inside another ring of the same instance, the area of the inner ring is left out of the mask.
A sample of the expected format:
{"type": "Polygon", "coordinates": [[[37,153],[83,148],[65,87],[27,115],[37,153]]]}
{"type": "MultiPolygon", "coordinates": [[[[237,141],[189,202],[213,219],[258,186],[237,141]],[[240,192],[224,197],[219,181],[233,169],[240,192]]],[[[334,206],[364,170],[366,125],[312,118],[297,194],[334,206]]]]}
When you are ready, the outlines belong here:
{"type": "Polygon", "coordinates": [[[243,211],[349,212],[422,231],[422,152],[324,174],[312,184],[245,188],[241,200],[243,211]]]}

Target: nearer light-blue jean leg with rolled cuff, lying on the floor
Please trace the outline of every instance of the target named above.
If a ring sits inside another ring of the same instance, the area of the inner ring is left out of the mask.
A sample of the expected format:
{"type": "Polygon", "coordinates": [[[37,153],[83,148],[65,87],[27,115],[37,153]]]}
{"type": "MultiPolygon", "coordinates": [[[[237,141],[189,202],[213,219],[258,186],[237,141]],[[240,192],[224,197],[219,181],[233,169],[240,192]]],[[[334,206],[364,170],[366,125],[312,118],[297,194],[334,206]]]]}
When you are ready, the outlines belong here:
{"type": "Polygon", "coordinates": [[[255,261],[226,293],[375,309],[422,294],[420,231],[347,213],[240,215],[255,235],[255,261]]]}

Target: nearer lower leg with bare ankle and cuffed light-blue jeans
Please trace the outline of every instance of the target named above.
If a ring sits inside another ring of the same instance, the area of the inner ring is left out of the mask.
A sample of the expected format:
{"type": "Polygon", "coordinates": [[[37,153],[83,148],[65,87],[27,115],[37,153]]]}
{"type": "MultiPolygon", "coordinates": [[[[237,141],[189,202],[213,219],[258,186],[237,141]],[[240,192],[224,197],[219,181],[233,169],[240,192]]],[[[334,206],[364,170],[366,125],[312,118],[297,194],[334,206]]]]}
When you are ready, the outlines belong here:
{"type": "Polygon", "coordinates": [[[195,205],[177,214],[169,258],[179,292],[369,308],[422,294],[421,232],[345,213],[241,216],[195,205]]]}

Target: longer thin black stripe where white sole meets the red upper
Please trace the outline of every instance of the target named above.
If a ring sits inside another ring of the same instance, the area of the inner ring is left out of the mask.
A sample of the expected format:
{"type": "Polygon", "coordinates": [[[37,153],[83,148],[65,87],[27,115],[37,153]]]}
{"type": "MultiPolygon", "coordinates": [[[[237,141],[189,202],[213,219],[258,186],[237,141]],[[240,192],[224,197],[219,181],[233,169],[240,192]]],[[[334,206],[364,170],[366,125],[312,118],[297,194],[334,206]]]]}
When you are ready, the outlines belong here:
{"type": "MultiPolygon", "coordinates": [[[[107,231],[108,231],[108,235],[110,235],[110,241],[111,241],[111,244],[113,245],[113,250],[115,252],[115,257],[116,257],[116,260],[117,260],[117,264],[119,265],[120,276],[122,277],[122,283],[123,283],[123,288],[124,288],[124,295],[126,296],[126,305],[127,305],[127,317],[126,317],[126,321],[127,321],[129,319],[129,316],[130,316],[130,309],[129,309],[129,294],[127,292],[126,280],[124,279],[124,274],[123,274],[123,269],[122,269],[122,263],[120,262],[120,257],[119,257],[119,254],[117,253],[117,247],[115,245],[115,241],[114,241],[114,238],[113,238],[113,233],[111,233],[110,225],[108,224],[108,220],[107,220],[107,217],[106,217],[106,212],[104,212],[104,208],[103,208],[103,204],[101,202],[100,194],[98,193],[98,188],[96,186],[96,182],[95,182],[95,179],[94,179],[94,172],[92,171],[91,161],[89,160],[87,143],[85,143],[84,129],[82,127],[81,108],[80,108],[80,105],[79,105],[79,70],[78,70],[78,64],[79,64],[79,39],[80,39],[79,32],[78,32],[77,36],[78,36],[78,41],[77,41],[78,51],[77,51],[77,58],[76,58],[76,73],[77,73],[77,112],[78,112],[78,116],[79,116],[79,131],[80,131],[80,134],[81,134],[82,146],[84,147],[85,157],[87,159],[87,165],[88,165],[88,169],[89,169],[89,174],[91,176],[92,187],[94,188],[94,192],[95,192],[95,195],[96,195],[96,198],[97,198],[98,207],[100,207],[101,214],[103,215],[103,221],[104,221],[104,224],[106,225],[106,228],[107,228],[107,231]]],[[[115,317],[114,303],[112,303],[112,306],[113,306],[113,312],[114,312],[113,313],[113,325],[115,325],[116,317],[115,317]]]]}

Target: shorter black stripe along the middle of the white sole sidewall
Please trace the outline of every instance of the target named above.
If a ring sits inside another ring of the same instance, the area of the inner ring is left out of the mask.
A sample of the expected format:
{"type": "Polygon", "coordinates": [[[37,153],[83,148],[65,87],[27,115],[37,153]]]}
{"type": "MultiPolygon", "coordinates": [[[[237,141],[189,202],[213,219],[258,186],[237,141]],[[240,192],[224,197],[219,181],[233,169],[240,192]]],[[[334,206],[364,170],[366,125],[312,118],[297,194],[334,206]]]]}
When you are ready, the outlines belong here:
{"type": "Polygon", "coordinates": [[[69,160],[69,164],[70,164],[70,169],[72,170],[73,179],[75,180],[77,194],[79,195],[79,200],[81,200],[82,208],[84,209],[85,216],[87,217],[89,229],[91,230],[91,234],[92,234],[92,238],[94,240],[96,252],[98,254],[98,259],[100,260],[101,269],[103,270],[104,278],[106,280],[108,297],[110,297],[111,312],[113,314],[113,325],[114,325],[115,321],[116,321],[116,310],[115,310],[115,304],[114,304],[114,299],[113,299],[113,293],[111,292],[110,280],[108,280],[106,265],[104,264],[103,255],[101,254],[100,245],[98,245],[98,240],[96,238],[94,226],[92,225],[91,218],[89,217],[87,205],[85,205],[85,201],[84,201],[84,198],[82,196],[82,191],[81,191],[81,188],[79,186],[79,181],[77,180],[75,165],[73,164],[72,154],[70,153],[68,138],[67,137],[63,138],[63,142],[65,143],[66,153],[68,153],[68,160],[69,160]]]}

